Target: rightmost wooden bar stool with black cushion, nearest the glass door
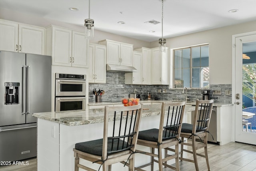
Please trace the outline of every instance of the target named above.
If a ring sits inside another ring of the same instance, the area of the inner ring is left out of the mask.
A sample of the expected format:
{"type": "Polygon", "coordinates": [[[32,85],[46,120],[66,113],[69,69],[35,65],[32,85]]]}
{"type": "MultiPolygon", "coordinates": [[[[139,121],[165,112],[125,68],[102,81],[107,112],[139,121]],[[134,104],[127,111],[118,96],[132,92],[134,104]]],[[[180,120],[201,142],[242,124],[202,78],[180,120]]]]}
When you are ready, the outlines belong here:
{"type": "Polygon", "coordinates": [[[207,153],[207,133],[208,126],[210,123],[210,118],[212,114],[212,106],[213,106],[214,100],[196,100],[196,109],[194,114],[193,123],[182,123],[182,129],[180,133],[181,139],[181,156],[180,160],[189,161],[195,164],[196,171],[199,171],[198,169],[198,163],[197,163],[197,155],[201,157],[206,158],[206,164],[208,171],[210,171],[210,165],[209,165],[209,159],[208,159],[208,153],[207,153]],[[185,142],[184,138],[192,139],[192,142],[185,142]],[[200,139],[198,143],[196,143],[196,139],[200,139]],[[203,139],[203,140],[202,140],[203,139]],[[184,149],[184,145],[191,146],[192,151],[189,151],[187,149],[184,149]],[[204,154],[196,153],[196,150],[204,148],[204,154]],[[186,151],[188,153],[193,154],[194,160],[184,158],[183,152],[186,151]]]}

